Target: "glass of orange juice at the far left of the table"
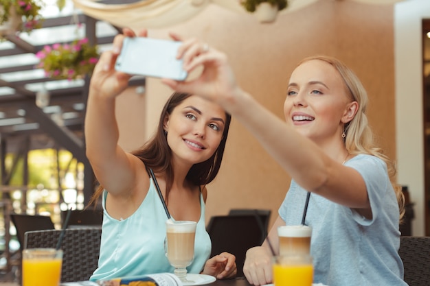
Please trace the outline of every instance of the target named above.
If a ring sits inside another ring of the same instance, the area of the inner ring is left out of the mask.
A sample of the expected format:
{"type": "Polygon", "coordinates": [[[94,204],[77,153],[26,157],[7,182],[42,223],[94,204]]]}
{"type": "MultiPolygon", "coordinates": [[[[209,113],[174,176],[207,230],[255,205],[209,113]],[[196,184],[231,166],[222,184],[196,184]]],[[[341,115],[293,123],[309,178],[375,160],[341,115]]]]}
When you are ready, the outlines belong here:
{"type": "Polygon", "coordinates": [[[23,250],[23,286],[58,286],[63,250],[29,248],[23,250]]]}

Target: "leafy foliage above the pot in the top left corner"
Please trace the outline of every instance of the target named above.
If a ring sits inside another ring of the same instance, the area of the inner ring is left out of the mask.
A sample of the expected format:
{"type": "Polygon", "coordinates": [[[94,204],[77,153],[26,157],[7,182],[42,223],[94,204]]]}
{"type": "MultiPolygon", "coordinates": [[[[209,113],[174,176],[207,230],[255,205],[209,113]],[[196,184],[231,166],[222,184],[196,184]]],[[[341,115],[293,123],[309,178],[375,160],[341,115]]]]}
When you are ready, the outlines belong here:
{"type": "Polygon", "coordinates": [[[41,1],[0,0],[0,25],[8,22],[12,14],[16,14],[23,21],[23,25],[18,27],[18,31],[30,33],[32,29],[42,27],[41,9],[41,1]]]}

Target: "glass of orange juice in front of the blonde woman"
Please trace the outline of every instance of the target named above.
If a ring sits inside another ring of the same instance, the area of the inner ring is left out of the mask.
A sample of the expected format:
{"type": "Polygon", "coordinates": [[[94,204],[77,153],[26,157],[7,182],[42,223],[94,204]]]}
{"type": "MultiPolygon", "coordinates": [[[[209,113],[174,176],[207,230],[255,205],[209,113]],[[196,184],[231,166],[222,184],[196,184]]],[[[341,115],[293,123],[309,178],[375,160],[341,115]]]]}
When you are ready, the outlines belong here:
{"type": "Polygon", "coordinates": [[[275,261],[273,264],[273,283],[275,286],[312,286],[313,265],[311,262],[275,261]]]}

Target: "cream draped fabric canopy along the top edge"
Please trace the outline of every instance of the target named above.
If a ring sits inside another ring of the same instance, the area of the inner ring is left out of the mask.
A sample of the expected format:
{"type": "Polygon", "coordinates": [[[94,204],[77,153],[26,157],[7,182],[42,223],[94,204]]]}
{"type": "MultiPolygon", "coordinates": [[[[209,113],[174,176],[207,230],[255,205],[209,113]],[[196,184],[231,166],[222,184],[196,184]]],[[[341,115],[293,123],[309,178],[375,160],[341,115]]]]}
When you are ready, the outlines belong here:
{"type": "MultiPolygon", "coordinates": [[[[288,8],[280,14],[292,12],[318,0],[289,0],[288,8]]],[[[372,4],[389,4],[400,0],[349,0],[372,4]]],[[[248,13],[240,0],[142,0],[130,4],[104,4],[98,0],[73,0],[79,8],[95,19],[117,27],[168,27],[186,21],[199,14],[207,5],[215,4],[241,14],[248,13]]]]}

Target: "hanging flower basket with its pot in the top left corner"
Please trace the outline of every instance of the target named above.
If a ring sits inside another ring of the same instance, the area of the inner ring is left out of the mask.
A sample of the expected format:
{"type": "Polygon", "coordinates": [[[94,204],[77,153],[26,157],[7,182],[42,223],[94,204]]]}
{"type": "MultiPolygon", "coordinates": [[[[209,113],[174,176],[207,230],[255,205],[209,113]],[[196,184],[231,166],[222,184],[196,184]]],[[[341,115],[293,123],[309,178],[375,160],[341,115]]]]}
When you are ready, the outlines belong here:
{"type": "Polygon", "coordinates": [[[41,1],[0,0],[0,34],[32,32],[42,27],[41,1]]]}

